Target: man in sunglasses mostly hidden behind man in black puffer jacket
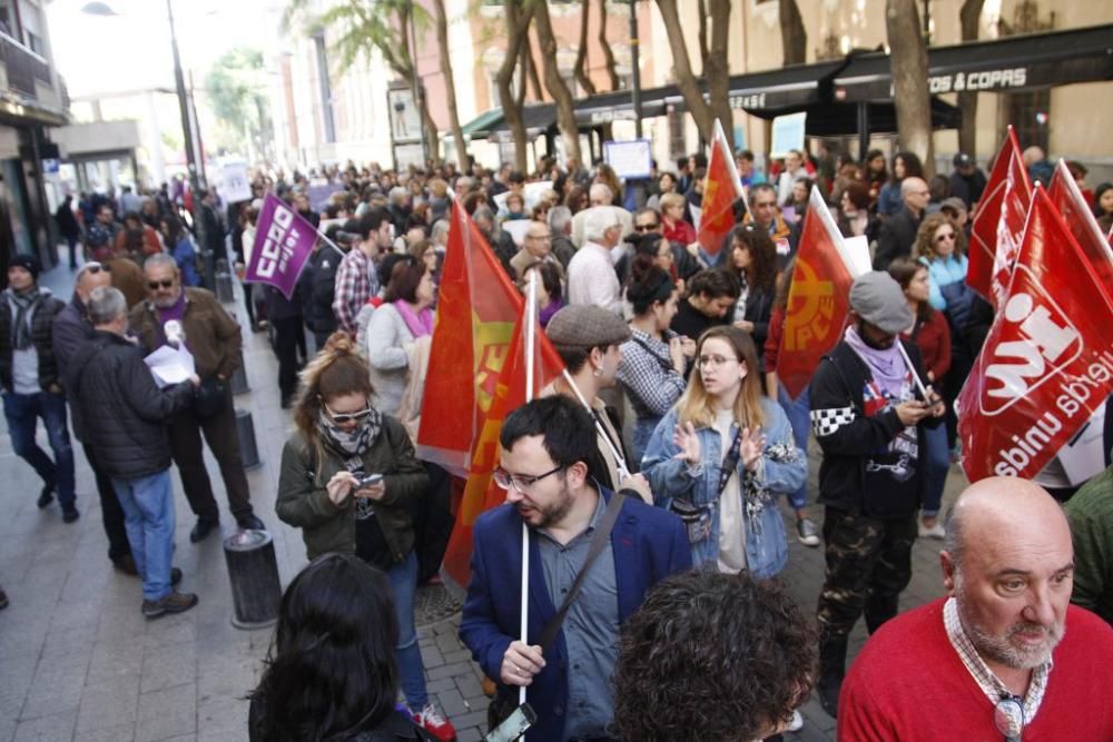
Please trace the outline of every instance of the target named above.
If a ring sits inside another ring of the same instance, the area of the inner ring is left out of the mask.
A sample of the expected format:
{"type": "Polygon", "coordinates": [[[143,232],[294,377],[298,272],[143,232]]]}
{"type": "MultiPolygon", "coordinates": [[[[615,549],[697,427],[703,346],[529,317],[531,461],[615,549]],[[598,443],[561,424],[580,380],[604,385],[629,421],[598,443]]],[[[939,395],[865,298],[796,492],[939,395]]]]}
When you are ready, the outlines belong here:
{"type": "MultiPolygon", "coordinates": [[[[55,317],[55,356],[61,368],[69,367],[73,355],[95,330],[89,319],[89,297],[98,288],[112,285],[112,275],[100,263],[86,263],[77,274],[73,285],[73,298],[55,317]]],[[[73,437],[85,447],[85,457],[92,469],[97,482],[97,494],[100,496],[100,515],[108,537],[108,558],[112,566],[129,575],[137,575],[135,560],[131,557],[131,546],[128,544],[128,532],[124,526],[124,509],[116,497],[112,481],[105,469],[97,464],[97,457],[90,444],[89,434],[81,419],[81,409],[77,404],[72,389],[66,389],[70,403],[70,414],[73,419],[73,437]]]]}

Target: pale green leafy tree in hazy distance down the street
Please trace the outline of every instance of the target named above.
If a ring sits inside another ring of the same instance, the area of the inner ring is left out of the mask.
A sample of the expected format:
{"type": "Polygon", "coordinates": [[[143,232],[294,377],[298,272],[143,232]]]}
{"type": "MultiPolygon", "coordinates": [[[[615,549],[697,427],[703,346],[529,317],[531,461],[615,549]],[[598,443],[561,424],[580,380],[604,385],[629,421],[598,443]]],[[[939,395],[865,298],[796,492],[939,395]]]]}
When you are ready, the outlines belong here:
{"type": "Polygon", "coordinates": [[[248,154],[254,150],[259,159],[273,159],[274,132],[263,75],[262,51],[232,49],[205,77],[205,95],[227,128],[229,142],[248,154]]]}

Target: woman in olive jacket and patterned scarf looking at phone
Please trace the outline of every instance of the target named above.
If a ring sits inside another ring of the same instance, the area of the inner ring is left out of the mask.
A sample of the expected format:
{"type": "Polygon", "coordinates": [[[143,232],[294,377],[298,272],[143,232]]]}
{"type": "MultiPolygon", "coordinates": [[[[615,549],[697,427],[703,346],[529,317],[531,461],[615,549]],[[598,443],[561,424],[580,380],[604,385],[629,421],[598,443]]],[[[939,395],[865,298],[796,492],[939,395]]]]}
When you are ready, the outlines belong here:
{"type": "Polygon", "coordinates": [[[335,333],[302,372],[275,511],[302,528],[307,556],[355,554],[386,572],[398,621],[395,650],[414,721],[447,742],[455,730],[430,702],[414,625],[417,557],[411,501],[429,485],[402,424],[372,406],[367,363],[335,333]]]}

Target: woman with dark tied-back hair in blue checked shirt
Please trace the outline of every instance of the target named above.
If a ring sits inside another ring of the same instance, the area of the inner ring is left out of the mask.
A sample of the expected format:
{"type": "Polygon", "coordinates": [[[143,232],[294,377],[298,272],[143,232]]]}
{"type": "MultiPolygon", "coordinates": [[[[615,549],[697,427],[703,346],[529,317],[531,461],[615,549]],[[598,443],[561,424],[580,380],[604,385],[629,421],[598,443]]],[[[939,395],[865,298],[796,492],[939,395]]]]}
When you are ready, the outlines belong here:
{"type": "Polygon", "coordinates": [[[679,291],[669,274],[652,257],[636,256],[627,281],[627,301],[634,316],[618,374],[638,416],[633,426],[636,462],[646,453],[653,428],[683,394],[688,363],[696,355],[693,340],[669,329],[678,300],[679,291]]]}

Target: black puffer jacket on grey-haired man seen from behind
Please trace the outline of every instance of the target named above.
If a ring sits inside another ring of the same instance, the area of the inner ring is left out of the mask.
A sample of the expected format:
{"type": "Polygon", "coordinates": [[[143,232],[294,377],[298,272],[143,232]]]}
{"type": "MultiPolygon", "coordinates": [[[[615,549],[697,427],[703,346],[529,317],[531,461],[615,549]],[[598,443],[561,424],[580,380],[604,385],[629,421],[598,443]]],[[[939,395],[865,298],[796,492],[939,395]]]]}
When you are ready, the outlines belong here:
{"type": "Polygon", "coordinates": [[[139,348],[95,330],[67,365],[66,386],[80,410],[85,443],[108,476],[138,479],[170,467],[166,423],[193,402],[193,384],[159,389],[139,348]]]}

